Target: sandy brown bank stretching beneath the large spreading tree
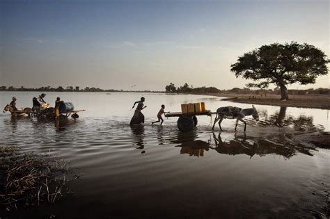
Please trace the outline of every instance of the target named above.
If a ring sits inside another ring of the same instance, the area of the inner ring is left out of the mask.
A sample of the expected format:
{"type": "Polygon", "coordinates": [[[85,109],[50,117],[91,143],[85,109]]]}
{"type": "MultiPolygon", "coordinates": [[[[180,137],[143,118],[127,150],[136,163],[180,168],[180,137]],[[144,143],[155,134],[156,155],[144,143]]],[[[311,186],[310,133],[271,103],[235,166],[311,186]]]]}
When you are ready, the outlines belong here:
{"type": "Polygon", "coordinates": [[[228,97],[223,100],[228,100],[244,104],[259,104],[272,106],[291,106],[300,108],[322,108],[330,109],[330,95],[289,95],[290,100],[282,101],[278,95],[267,95],[261,97],[255,95],[237,95],[237,94],[212,94],[217,97],[228,97]]]}

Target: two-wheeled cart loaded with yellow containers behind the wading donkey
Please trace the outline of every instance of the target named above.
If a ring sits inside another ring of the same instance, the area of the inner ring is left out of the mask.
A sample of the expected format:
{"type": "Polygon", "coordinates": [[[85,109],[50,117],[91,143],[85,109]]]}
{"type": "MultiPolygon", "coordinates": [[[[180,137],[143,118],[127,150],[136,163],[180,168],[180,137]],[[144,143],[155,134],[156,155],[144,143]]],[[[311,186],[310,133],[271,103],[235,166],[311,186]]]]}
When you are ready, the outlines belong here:
{"type": "Polygon", "coordinates": [[[205,103],[181,104],[181,112],[167,113],[165,117],[179,117],[178,129],[180,131],[191,131],[197,125],[197,115],[211,115],[211,111],[206,110],[205,103]]]}

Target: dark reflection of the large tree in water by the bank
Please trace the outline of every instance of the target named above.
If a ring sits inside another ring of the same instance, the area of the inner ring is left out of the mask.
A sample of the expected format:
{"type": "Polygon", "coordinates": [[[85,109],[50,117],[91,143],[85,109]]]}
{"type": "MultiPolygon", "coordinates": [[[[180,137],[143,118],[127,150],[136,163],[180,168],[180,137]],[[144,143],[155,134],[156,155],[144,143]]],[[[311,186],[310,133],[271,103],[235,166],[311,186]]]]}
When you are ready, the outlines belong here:
{"type": "Polygon", "coordinates": [[[323,131],[322,125],[313,124],[313,116],[299,115],[299,117],[293,117],[292,115],[286,115],[287,108],[281,106],[280,111],[269,116],[270,124],[275,124],[278,127],[292,126],[299,131],[323,131]]]}

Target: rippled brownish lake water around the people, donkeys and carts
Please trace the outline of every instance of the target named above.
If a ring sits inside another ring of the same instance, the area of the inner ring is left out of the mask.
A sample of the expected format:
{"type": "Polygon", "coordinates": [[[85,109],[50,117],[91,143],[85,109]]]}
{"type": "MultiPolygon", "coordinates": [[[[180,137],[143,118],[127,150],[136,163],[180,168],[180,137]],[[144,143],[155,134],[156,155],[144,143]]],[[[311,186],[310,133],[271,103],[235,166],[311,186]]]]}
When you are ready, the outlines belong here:
{"type": "MultiPolygon", "coordinates": [[[[30,106],[35,92],[1,92],[0,106],[17,97],[30,106]]],[[[330,151],[290,138],[307,131],[329,131],[328,111],[256,106],[260,122],[247,118],[246,133],[224,120],[212,131],[211,117],[180,133],[176,119],[150,123],[160,105],[180,111],[184,102],[205,102],[208,109],[248,104],[219,97],[134,93],[47,93],[86,109],[79,120],[57,125],[36,118],[0,116],[0,145],[20,152],[54,154],[70,161],[79,179],[74,193],[53,205],[6,212],[0,217],[42,218],[219,218],[326,217],[330,151]],[[132,104],[146,97],[146,124],[129,127],[132,104]],[[276,125],[274,125],[276,124],[276,125]]]]}

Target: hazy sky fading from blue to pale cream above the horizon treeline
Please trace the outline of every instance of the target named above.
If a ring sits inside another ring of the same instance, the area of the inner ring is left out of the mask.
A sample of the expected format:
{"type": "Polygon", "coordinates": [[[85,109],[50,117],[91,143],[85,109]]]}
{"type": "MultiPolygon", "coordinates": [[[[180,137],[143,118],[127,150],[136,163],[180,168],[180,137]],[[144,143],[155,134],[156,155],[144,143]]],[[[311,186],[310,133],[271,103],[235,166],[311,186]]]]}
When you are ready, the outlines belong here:
{"type": "Polygon", "coordinates": [[[263,44],[306,42],[329,58],[329,14],[322,0],[1,0],[0,86],[243,88],[230,65],[263,44]]]}

